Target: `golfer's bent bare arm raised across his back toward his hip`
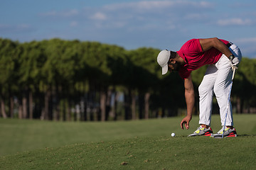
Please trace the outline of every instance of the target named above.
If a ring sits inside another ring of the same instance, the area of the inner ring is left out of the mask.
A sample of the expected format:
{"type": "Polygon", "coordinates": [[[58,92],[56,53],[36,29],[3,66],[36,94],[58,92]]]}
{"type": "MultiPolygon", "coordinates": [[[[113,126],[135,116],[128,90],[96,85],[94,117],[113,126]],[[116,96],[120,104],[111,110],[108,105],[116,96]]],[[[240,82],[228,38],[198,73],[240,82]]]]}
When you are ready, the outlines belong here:
{"type": "Polygon", "coordinates": [[[224,42],[222,42],[218,38],[199,39],[199,42],[203,51],[207,51],[210,50],[211,47],[215,47],[215,49],[219,50],[227,57],[230,57],[230,55],[232,55],[227,45],[225,45],[224,42]]]}

